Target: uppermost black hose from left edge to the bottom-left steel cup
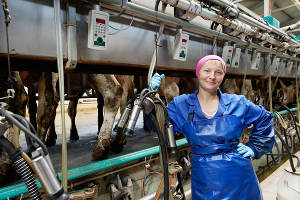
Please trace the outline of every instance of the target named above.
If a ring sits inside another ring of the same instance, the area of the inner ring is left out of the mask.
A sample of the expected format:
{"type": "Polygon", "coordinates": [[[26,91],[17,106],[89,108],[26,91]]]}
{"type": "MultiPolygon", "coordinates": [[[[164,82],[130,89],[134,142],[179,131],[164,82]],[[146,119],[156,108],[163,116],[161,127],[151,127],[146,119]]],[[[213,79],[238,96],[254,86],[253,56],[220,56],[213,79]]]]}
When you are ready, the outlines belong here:
{"type": "Polygon", "coordinates": [[[19,129],[21,129],[25,134],[27,134],[33,141],[35,141],[43,150],[44,155],[48,154],[48,149],[46,145],[30,130],[28,130],[25,126],[23,126],[18,120],[16,120],[13,116],[8,114],[4,109],[0,108],[0,114],[5,116],[5,119],[15,124],[19,129]]]}

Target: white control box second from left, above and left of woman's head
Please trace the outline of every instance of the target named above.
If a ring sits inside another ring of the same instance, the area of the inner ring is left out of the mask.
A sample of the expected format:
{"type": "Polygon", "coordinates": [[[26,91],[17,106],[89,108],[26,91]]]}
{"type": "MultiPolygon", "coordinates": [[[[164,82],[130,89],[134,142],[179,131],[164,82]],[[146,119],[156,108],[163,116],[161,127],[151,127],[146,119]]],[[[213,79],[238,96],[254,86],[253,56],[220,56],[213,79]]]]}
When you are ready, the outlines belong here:
{"type": "Polygon", "coordinates": [[[187,43],[189,35],[185,33],[177,33],[175,36],[175,46],[173,59],[185,61],[187,53],[187,43]]]}

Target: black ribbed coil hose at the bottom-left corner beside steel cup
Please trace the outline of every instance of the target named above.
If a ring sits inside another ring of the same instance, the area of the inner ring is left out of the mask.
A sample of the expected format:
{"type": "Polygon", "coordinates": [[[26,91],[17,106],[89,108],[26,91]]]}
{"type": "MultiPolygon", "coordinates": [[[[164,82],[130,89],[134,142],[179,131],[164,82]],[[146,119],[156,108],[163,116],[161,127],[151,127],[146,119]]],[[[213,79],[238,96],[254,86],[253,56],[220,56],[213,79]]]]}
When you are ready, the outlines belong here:
{"type": "Polygon", "coordinates": [[[33,174],[25,160],[21,158],[15,161],[14,164],[16,166],[16,170],[20,173],[22,180],[27,186],[30,198],[32,200],[41,199],[40,192],[34,180],[33,174]]]}

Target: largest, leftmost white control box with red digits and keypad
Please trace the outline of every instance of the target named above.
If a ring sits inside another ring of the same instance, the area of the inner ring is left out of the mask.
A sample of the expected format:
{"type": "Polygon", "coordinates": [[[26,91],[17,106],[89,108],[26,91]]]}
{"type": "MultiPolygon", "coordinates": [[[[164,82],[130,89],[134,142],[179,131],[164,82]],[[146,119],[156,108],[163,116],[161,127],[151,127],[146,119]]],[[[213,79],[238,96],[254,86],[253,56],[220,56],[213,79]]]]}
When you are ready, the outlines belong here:
{"type": "Polygon", "coordinates": [[[87,47],[95,50],[108,48],[109,13],[92,9],[88,12],[87,47]]]}

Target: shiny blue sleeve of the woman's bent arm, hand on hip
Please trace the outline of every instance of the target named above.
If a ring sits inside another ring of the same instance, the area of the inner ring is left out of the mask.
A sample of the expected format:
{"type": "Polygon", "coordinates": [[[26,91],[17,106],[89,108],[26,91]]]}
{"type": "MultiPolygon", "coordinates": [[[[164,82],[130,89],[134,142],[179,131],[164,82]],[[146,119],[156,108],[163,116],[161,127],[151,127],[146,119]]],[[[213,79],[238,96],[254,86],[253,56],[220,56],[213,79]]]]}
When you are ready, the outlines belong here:
{"type": "Polygon", "coordinates": [[[253,124],[251,135],[246,146],[254,152],[254,159],[259,159],[263,154],[272,150],[275,137],[273,129],[273,114],[261,105],[255,105],[246,98],[243,98],[245,116],[243,124],[253,124]]]}

